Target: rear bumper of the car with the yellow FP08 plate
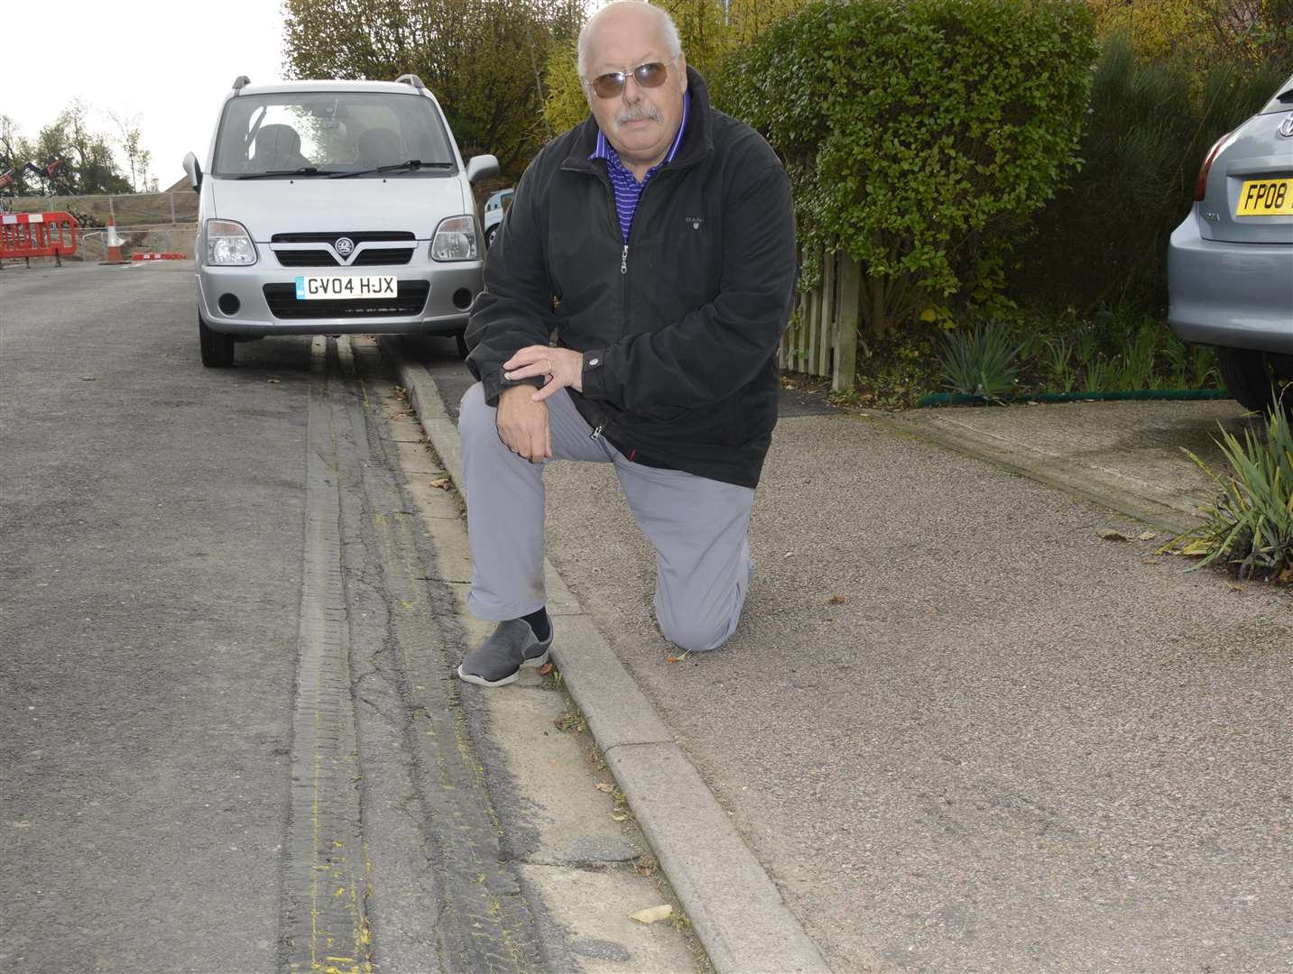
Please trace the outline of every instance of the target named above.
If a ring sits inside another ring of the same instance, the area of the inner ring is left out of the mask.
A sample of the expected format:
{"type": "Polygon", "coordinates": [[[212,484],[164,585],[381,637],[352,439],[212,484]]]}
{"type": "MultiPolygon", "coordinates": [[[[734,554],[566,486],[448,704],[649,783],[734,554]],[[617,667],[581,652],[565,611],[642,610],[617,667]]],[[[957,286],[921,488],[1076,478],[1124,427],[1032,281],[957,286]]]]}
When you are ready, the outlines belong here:
{"type": "Polygon", "coordinates": [[[1168,245],[1168,296],[1184,341],[1293,355],[1293,245],[1204,240],[1191,212],[1168,245]]]}

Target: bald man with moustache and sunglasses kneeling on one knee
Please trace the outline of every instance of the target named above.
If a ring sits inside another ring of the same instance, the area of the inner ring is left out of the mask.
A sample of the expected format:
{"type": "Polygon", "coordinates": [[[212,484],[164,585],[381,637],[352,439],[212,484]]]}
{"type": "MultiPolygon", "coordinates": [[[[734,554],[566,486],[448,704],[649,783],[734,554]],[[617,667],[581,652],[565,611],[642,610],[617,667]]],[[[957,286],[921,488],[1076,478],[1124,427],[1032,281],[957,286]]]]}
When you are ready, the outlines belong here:
{"type": "Polygon", "coordinates": [[[710,107],[668,14],[601,8],[579,35],[591,118],[539,152],[467,329],[468,610],[498,621],[458,669],[502,686],[547,660],[543,469],[614,464],[656,546],[656,619],[721,646],[750,584],[754,488],[777,421],[795,231],[785,169],[710,107]]]}

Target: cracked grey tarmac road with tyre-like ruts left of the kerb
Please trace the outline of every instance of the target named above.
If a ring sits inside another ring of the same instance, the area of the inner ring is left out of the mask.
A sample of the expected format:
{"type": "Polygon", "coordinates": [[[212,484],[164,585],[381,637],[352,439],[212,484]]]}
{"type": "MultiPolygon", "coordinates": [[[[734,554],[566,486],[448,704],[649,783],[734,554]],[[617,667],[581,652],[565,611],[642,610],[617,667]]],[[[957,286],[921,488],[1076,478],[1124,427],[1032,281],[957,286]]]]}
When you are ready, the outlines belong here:
{"type": "Polygon", "coordinates": [[[0,275],[0,968],[578,966],[504,847],[375,345],[203,369],[190,275],[0,275]]]}

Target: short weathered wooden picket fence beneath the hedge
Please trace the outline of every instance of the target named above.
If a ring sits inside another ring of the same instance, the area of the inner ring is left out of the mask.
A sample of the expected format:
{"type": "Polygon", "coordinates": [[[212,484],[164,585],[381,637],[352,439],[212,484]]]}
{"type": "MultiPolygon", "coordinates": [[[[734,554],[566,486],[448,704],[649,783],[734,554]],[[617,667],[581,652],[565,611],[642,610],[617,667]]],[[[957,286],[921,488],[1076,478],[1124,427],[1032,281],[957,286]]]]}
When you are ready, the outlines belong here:
{"type": "Polygon", "coordinates": [[[821,284],[796,296],[781,336],[777,364],[830,380],[833,390],[852,389],[857,375],[857,316],[861,267],[847,254],[826,253],[821,284]]]}

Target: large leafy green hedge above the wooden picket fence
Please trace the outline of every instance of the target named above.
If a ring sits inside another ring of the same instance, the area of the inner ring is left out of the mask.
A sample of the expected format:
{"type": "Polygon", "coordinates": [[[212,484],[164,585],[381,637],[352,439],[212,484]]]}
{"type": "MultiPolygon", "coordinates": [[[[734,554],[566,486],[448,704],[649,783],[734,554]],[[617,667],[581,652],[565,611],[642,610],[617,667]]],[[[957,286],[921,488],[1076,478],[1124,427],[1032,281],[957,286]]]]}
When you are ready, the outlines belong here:
{"type": "Polygon", "coordinates": [[[802,285],[847,251],[864,331],[884,337],[999,289],[1074,165],[1095,56],[1082,0],[818,3],[733,54],[719,90],[786,160],[802,285]]]}

